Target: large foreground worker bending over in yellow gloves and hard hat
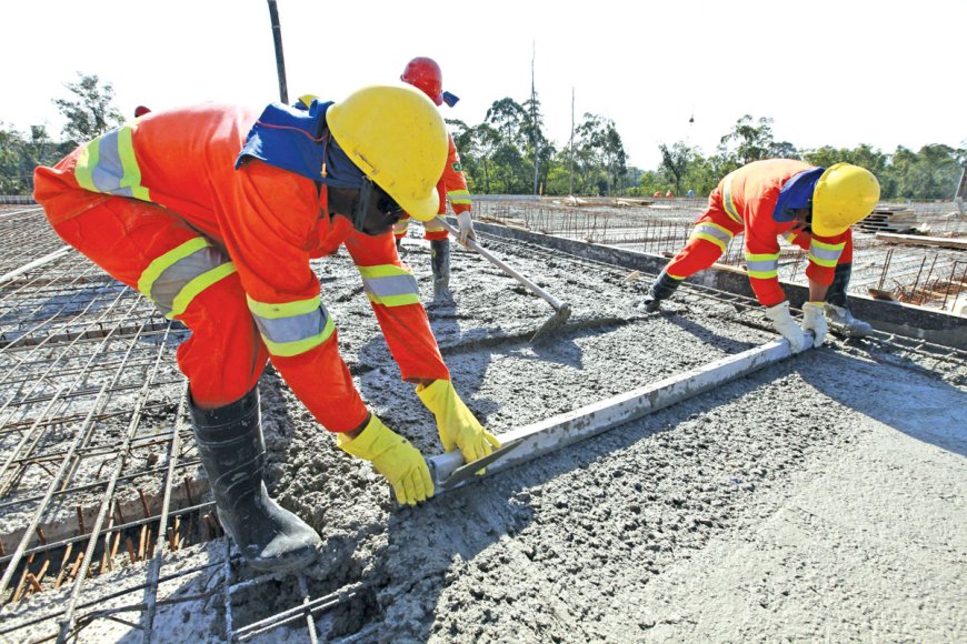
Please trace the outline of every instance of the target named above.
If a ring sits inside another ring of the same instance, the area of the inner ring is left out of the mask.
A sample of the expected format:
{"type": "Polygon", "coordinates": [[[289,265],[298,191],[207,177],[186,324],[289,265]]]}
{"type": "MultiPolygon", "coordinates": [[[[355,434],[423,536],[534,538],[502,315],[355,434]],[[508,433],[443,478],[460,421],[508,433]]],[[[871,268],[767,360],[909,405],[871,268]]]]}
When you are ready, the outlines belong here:
{"type": "Polygon", "coordinates": [[[409,87],[363,88],[261,115],[206,103],[156,111],[38,168],[57,233],[191,336],[177,352],[219,517],[258,568],[291,570],[319,535],[269,497],[258,380],[267,360],[400,503],[433,494],[420,452],[362,402],[309,260],[345,244],[399,364],[468,462],[498,443],[462,403],[392,224],[436,215],[447,158],[437,109],[409,87]]]}

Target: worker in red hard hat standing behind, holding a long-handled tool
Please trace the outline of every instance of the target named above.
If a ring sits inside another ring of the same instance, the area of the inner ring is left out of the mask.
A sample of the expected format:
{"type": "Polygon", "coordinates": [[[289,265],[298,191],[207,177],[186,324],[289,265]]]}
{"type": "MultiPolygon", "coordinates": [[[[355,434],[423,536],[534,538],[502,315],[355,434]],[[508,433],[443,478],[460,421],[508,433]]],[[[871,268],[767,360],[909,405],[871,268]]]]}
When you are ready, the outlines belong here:
{"type": "MultiPolygon", "coordinates": [[[[440,66],[431,58],[417,57],[409,61],[403,69],[400,80],[413,85],[427,94],[438,107],[447,103],[453,107],[460,100],[450,92],[443,91],[443,73],[440,66]]],[[[448,133],[449,152],[447,164],[443,167],[443,175],[437,184],[440,195],[439,214],[447,212],[447,200],[457,215],[460,227],[460,243],[467,243],[467,239],[476,239],[473,222],[470,219],[470,192],[467,190],[467,179],[460,167],[460,155],[453,143],[453,137],[448,133]]],[[[393,235],[397,239],[397,249],[402,252],[402,238],[409,228],[409,217],[403,215],[393,227],[393,235]]],[[[430,268],[433,272],[433,294],[436,298],[446,296],[449,293],[450,283],[450,240],[445,228],[437,223],[423,223],[423,239],[430,242],[430,268]]]]}

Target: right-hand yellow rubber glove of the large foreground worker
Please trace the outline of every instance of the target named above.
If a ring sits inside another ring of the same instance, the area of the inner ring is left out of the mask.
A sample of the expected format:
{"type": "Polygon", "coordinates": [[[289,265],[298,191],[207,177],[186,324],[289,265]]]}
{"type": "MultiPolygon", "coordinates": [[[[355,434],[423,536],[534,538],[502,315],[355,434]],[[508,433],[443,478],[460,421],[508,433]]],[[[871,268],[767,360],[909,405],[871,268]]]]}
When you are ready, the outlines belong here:
{"type": "Polygon", "coordinates": [[[418,385],[417,395],[437,417],[437,431],[446,451],[459,447],[463,459],[472,463],[500,447],[500,441],[473,417],[449,380],[437,380],[429,386],[418,385]]]}

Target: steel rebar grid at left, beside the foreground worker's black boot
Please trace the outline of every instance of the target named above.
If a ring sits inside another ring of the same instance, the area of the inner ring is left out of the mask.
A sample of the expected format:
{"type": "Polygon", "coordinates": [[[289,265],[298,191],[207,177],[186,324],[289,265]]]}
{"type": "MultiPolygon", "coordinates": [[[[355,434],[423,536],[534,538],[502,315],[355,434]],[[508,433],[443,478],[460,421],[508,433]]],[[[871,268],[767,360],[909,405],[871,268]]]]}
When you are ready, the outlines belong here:
{"type": "MultiPolygon", "coordinates": [[[[18,258],[24,260],[32,261],[18,258]]],[[[0,531],[0,638],[40,633],[69,641],[112,621],[150,642],[159,606],[203,598],[159,595],[163,582],[181,577],[163,574],[172,553],[192,532],[198,541],[222,535],[223,552],[229,544],[212,519],[213,503],[199,502],[207,483],[197,476],[185,380],[173,360],[187,332],[72,250],[33,263],[0,284],[0,516],[7,526],[0,531]],[[120,592],[113,583],[94,584],[122,571],[143,583],[120,592]],[[58,600],[39,614],[29,611],[41,593],[58,600]],[[133,593],[140,601],[104,607],[133,593]]],[[[237,564],[223,556],[183,573],[219,571],[209,594],[223,595],[232,640],[300,621],[315,642],[313,614],[361,587],[313,597],[297,575],[297,606],[237,624],[236,593],[273,578],[239,580],[237,564]]]]}

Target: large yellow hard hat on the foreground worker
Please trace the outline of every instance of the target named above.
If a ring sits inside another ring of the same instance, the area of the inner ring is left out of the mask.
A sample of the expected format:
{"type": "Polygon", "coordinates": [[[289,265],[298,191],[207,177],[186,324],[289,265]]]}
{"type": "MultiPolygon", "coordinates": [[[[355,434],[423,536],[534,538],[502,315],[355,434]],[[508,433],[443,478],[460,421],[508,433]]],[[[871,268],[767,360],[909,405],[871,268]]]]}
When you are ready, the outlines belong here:
{"type": "Polygon", "coordinates": [[[362,88],[326,112],[329,130],[356,165],[411,217],[437,215],[447,163],[447,127],[421,91],[362,88]]]}

